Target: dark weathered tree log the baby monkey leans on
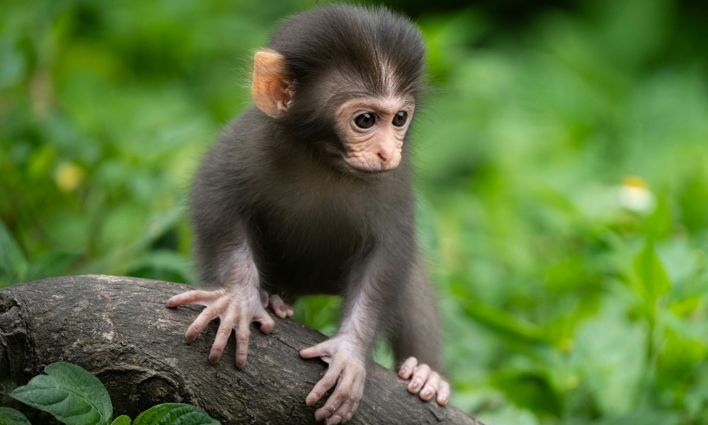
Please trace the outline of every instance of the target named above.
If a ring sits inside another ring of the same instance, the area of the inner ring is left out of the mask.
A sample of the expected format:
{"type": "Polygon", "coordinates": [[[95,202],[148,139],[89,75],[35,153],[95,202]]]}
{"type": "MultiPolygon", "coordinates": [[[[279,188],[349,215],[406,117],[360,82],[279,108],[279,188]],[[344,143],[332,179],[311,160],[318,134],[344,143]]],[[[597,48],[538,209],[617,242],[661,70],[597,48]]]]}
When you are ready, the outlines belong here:
{"type": "MultiPolygon", "coordinates": [[[[0,404],[20,409],[34,424],[47,416],[8,393],[66,361],[96,375],[108,389],[114,417],[159,403],[183,402],[223,424],[314,424],[304,399],[326,363],[299,350],[326,336],[291,319],[275,319],[268,335],[251,329],[243,370],[234,363],[234,335],[222,360],[207,362],[217,326],[191,344],[184,332],[202,309],[169,309],[166,300],[187,285],[115,276],[68,276],[0,290],[0,404]]],[[[327,395],[323,397],[326,399],[327,395]]],[[[375,365],[351,424],[480,424],[452,406],[422,402],[406,382],[375,365]]]]}

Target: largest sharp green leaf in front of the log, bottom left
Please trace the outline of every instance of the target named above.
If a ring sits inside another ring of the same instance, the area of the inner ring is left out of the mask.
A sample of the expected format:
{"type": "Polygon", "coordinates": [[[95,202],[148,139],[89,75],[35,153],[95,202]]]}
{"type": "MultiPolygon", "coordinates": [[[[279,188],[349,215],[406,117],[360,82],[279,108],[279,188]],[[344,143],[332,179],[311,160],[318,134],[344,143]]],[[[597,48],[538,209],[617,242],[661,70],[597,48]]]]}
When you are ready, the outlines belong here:
{"type": "Polygon", "coordinates": [[[108,425],[113,415],[108,392],[95,376],[71,363],[52,363],[10,397],[48,412],[67,425],[108,425]]]}

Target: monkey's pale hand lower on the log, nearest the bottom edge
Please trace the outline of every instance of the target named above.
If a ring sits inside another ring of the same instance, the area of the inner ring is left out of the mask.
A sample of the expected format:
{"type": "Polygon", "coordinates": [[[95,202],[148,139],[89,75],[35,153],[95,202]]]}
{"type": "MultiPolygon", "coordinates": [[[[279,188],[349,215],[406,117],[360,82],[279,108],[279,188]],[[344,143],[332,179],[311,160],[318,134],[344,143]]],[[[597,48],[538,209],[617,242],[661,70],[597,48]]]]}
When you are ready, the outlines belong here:
{"type": "Polygon", "coordinates": [[[324,420],[326,425],[346,424],[359,407],[366,380],[366,353],[358,348],[361,345],[348,336],[338,335],[300,351],[302,358],[319,357],[329,363],[327,373],[307,395],[305,404],[312,406],[337,384],[324,406],[314,412],[316,421],[324,420]]]}

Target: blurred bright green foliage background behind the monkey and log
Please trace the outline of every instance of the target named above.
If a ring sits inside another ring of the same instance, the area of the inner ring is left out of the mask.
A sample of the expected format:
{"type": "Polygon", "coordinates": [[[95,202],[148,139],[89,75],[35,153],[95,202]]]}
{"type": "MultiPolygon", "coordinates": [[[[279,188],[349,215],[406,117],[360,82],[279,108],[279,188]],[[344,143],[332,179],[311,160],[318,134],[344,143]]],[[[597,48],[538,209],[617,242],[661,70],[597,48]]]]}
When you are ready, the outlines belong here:
{"type": "MultiPolygon", "coordinates": [[[[412,149],[452,402],[708,424],[706,2],[429,3],[391,5],[429,47],[412,149]]],[[[313,5],[0,2],[0,286],[193,282],[195,166],[249,105],[253,51],[313,5]]],[[[336,326],[330,298],[297,310],[336,326]]]]}

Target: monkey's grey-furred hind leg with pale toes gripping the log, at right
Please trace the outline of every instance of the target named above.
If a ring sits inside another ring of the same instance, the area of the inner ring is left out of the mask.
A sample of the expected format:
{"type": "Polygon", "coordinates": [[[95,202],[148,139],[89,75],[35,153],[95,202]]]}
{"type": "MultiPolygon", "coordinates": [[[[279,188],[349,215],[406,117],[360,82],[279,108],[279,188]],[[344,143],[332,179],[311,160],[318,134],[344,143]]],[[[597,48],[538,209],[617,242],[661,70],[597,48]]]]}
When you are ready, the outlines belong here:
{"type": "Polygon", "coordinates": [[[442,327],[438,304],[426,272],[418,261],[409,285],[401,289],[392,314],[389,341],[399,368],[399,377],[410,379],[408,390],[440,405],[450,398],[450,384],[442,373],[442,327]],[[437,395],[437,396],[436,396],[437,395]]]}

